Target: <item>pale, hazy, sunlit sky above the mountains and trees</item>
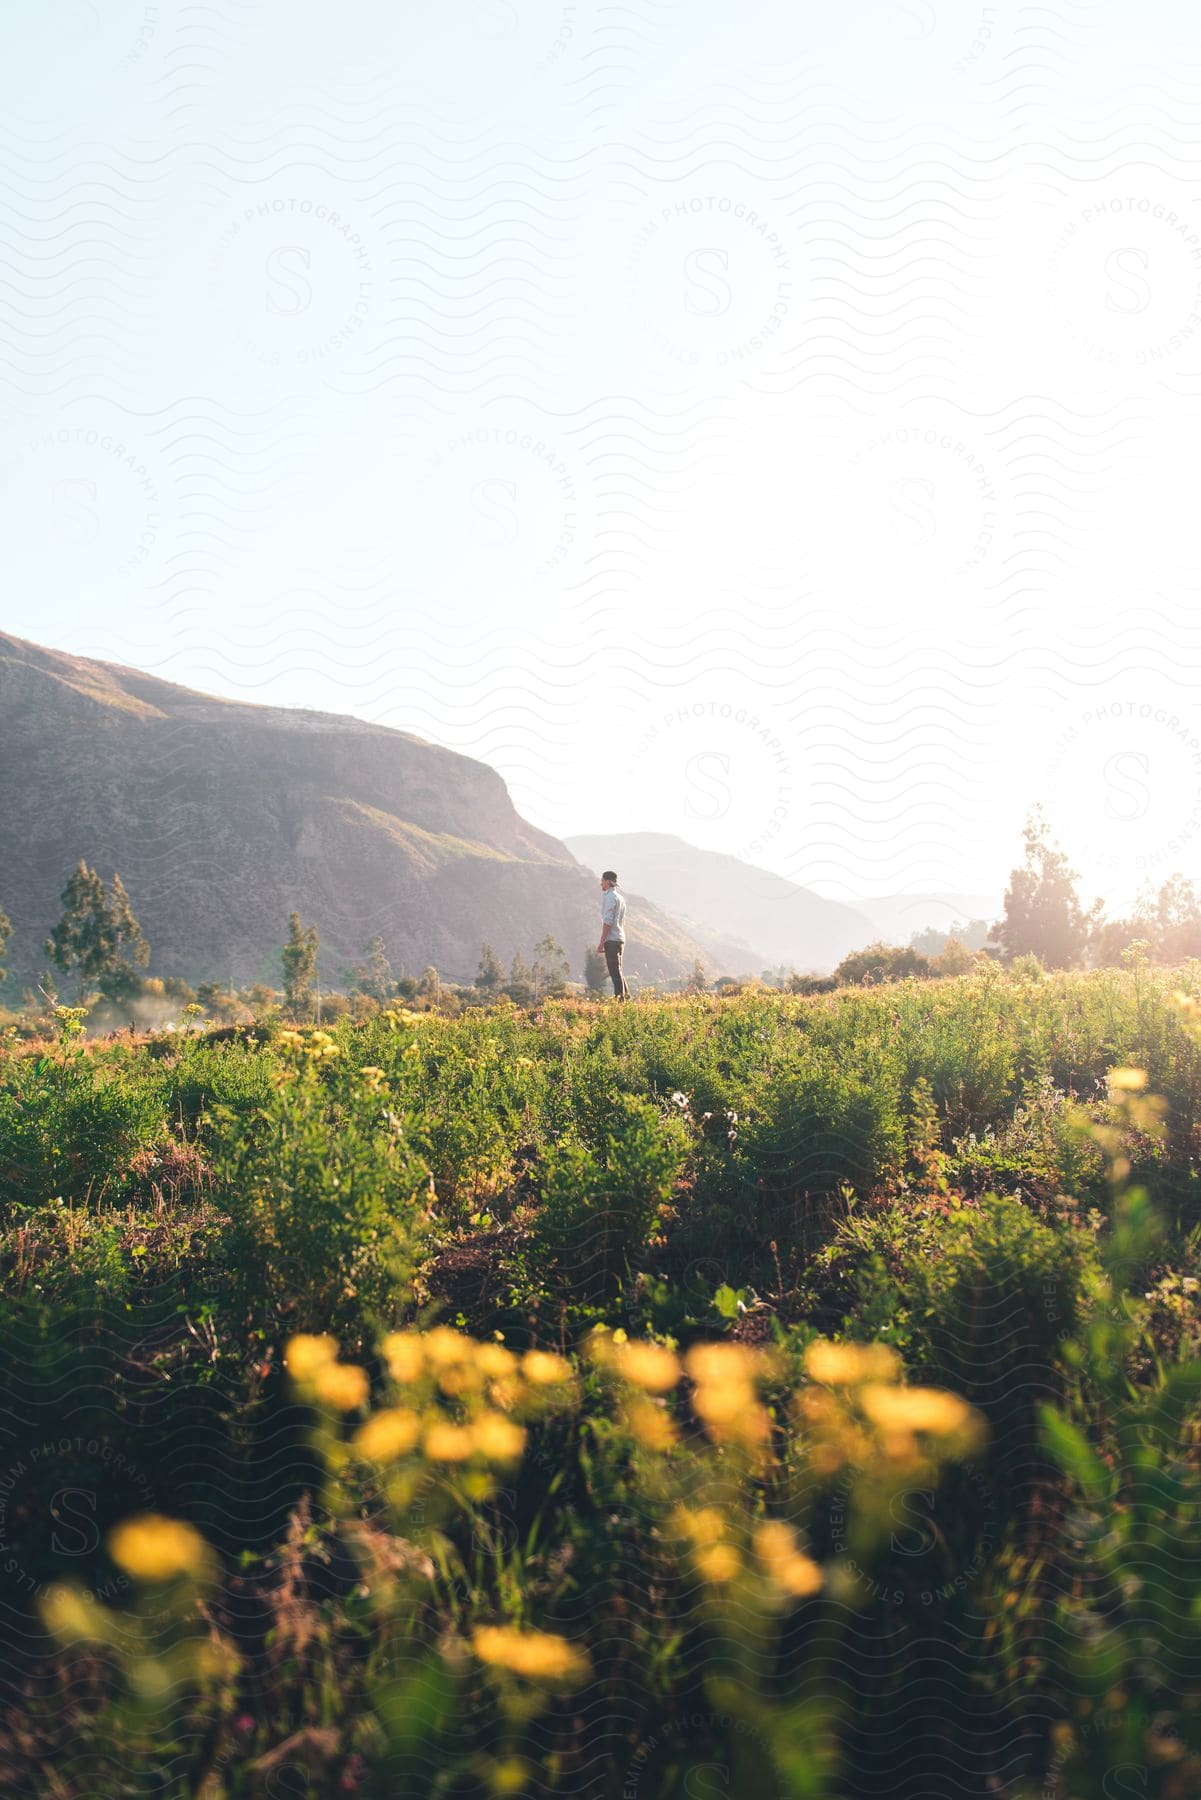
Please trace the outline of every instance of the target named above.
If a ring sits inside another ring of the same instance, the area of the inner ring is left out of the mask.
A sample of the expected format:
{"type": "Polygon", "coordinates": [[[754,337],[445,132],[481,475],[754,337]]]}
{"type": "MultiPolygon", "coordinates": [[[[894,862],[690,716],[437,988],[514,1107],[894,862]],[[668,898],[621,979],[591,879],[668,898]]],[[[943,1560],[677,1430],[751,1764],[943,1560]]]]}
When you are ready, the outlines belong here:
{"type": "Polygon", "coordinates": [[[40,0],[0,623],[834,898],[1201,873],[1201,18],[40,0]]]}

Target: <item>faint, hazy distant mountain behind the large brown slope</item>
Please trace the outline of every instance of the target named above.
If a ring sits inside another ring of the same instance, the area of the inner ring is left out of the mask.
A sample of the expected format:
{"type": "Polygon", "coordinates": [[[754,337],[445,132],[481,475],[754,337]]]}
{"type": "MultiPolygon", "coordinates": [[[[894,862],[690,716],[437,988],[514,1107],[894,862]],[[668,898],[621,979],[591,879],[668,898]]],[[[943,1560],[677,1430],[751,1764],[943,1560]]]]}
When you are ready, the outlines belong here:
{"type": "MultiPolygon", "coordinates": [[[[823,900],[738,857],[697,850],[682,837],[663,832],[569,837],[567,848],[589,868],[616,868],[623,887],[650,895],[695,936],[720,931],[754,943],[762,952],[756,972],[783,963],[803,974],[828,974],[875,934],[853,907],[823,900]]],[[[738,972],[717,963],[708,963],[711,976],[738,972]]]]}

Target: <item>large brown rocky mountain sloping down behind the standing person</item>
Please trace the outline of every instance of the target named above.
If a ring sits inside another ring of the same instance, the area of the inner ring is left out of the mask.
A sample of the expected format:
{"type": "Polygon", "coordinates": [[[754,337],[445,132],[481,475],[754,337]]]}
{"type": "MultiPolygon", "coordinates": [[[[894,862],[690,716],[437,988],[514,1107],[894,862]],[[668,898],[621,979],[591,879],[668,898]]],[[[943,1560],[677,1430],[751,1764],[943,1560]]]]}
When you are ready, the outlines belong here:
{"type": "MultiPolygon", "coordinates": [[[[600,936],[596,878],[517,814],[501,776],[405,731],[218,700],[0,634],[0,765],[5,997],[45,967],[79,857],[121,873],[151,974],[191,981],[279,983],[292,909],[321,931],[328,986],[376,932],[398,974],[434,963],[457,981],[484,940],[508,963],[551,932],[580,974],[600,936]]],[[[628,936],[645,981],[715,954],[711,934],[632,895],[628,936]]]]}

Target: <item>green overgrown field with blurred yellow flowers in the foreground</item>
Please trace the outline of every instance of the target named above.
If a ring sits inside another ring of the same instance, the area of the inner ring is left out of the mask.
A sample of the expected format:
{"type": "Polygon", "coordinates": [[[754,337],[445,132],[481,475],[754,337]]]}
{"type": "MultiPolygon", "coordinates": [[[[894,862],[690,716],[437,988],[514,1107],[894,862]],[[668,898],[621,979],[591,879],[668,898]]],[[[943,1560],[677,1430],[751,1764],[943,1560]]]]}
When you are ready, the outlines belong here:
{"type": "Polygon", "coordinates": [[[0,1786],[1201,1791],[1201,974],[0,1040],[0,1786]]]}

